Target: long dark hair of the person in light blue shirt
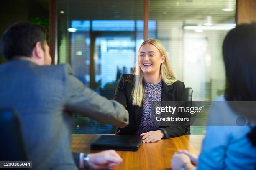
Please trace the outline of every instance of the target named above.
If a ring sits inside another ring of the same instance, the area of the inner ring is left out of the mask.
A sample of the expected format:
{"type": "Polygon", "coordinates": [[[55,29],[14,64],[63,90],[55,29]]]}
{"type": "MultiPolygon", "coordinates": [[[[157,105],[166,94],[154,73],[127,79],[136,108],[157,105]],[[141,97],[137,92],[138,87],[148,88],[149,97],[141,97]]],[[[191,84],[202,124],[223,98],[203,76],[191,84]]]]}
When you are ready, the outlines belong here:
{"type": "MultiPolygon", "coordinates": [[[[256,23],[237,25],[230,30],[222,50],[226,70],[225,99],[256,101],[256,23]]],[[[230,106],[234,110],[234,106],[230,106]]],[[[238,114],[246,113],[242,111],[238,114]]],[[[247,137],[256,146],[256,126],[247,137]]]]}

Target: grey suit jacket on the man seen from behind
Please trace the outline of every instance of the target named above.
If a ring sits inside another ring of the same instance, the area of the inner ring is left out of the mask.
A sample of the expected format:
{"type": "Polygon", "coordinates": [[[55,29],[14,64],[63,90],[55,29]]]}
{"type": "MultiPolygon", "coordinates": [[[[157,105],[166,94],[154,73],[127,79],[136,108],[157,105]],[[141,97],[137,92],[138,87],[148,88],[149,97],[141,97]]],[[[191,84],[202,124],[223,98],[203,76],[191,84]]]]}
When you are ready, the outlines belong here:
{"type": "Polygon", "coordinates": [[[70,149],[74,112],[115,126],[128,123],[121,104],[85,87],[68,64],[13,60],[0,65],[0,75],[0,108],[19,112],[33,169],[77,169],[70,149]]]}

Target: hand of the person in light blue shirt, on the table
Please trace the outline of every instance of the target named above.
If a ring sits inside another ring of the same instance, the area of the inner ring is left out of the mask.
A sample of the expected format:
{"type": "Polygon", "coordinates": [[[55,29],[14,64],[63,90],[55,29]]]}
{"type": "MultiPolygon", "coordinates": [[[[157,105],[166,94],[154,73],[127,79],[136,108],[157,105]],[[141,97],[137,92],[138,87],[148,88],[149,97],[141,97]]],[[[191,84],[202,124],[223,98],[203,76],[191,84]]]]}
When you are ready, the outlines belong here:
{"type": "Polygon", "coordinates": [[[189,164],[190,159],[187,155],[184,153],[174,153],[172,156],[171,164],[172,164],[172,169],[173,170],[181,170],[184,165],[189,164]]]}

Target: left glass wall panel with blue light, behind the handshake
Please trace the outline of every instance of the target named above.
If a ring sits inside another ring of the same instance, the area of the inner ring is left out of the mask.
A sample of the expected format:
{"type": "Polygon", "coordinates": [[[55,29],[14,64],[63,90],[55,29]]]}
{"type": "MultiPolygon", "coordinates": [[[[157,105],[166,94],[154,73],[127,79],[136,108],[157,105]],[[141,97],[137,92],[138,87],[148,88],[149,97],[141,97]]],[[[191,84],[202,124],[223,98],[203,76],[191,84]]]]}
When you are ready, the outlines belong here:
{"type": "MultiPolygon", "coordinates": [[[[58,0],[58,61],[100,95],[113,99],[121,74],[131,73],[143,42],[143,0],[58,0]]],[[[156,30],[156,22],[151,24],[156,30]]],[[[73,115],[73,133],[114,133],[112,125],[73,115]]]]}

